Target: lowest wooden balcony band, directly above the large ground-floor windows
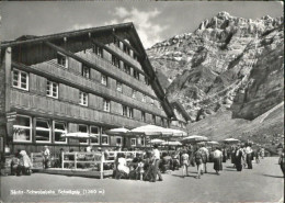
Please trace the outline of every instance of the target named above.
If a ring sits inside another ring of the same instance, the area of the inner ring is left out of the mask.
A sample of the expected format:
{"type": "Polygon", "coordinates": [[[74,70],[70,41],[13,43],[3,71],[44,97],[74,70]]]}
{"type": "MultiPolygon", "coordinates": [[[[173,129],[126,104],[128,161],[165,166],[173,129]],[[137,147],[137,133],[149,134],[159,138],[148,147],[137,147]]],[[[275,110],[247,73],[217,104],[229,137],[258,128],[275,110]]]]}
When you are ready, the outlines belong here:
{"type": "Polygon", "coordinates": [[[109,112],[84,108],[16,89],[11,89],[11,108],[37,116],[53,116],[55,119],[68,120],[77,123],[84,121],[94,124],[126,126],[130,128],[146,124],[109,112]]]}

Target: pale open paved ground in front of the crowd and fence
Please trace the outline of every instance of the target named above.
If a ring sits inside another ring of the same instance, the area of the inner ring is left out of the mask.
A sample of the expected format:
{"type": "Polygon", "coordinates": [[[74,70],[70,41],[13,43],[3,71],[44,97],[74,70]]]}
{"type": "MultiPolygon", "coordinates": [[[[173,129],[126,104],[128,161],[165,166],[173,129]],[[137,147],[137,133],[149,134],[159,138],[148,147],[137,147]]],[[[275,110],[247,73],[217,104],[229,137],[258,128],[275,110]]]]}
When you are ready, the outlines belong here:
{"type": "Polygon", "coordinates": [[[162,174],[162,182],[135,180],[91,179],[56,174],[33,173],[31,177],[1,177],[1,196],[4,202],[280,202],[284,179],[277,158],[265,158],[253,165],[253,170],[241,172],[224,163],[220,176],[213,163],[208,173],[195,179],[196,170],[182,178],[181,170],[162,174]],[[83,194],[96,190],[96,194],[83,194]],[[102,190],[100,190],[102,189],[102,190]],[[56,194],[13,194],[11,190],[50,190],[56,194]],[[79,191],[78,194],[59,194],[58,190],[79,191]],[[104,191],[104,193],[100,193],[104,191]]]}

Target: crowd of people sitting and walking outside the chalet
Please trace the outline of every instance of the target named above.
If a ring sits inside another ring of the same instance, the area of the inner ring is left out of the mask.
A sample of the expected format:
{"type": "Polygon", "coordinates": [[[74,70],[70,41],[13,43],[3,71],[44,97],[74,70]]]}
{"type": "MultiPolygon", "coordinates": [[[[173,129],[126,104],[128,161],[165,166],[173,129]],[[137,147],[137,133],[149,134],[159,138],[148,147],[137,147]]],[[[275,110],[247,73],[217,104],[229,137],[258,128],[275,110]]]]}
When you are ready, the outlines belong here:
{"type": "MultiPolygon", "coordinates": [[[[60,154],[64,150],[60,150],[60,154]]],[[[72,151],[72,150],[71,150],[72,151]]],[[[87,153],[93,153],[92,147],[88,146],[87,153]]],[[[98,149],[101,151],[101,148],[98,149]]],[[[50,151],[47,146],[44,147],[43,154],[43,166],[45,169],[50,166],[50,151]]],[[[109,159],[109,151],[105,150],[105,160],[109,159]]],[[[109,169],[114,170],[114,178],[122,179],[136,179],[147,180],[151,182],[162,181],[161,172],[164,173],[171,170],[178,170],[182,168],[182,177],[189,176],[189,168],[196,167],[197,176],[196,179],[201,179],[204,173],[207,173],[207,162],[214,162],[214,170],[216,174],[220,174],[223,170],[223,162],[228,159],[237,169],[242,171],[246,167],[252,169],[252,160],[255,157],[255,162],[259,163],[261,157],[265,156],[264,148],[252,149],[251,143],[237,144],[231,146],[224,146],[223,148],[210,147],[207,148],[204,143],[198,145],[187,145],[176,150],[160,151],[158,145],[153,145],[152,149],[136,154],[136,157],[132,161],[127,161],[124,151],[118,151],[114,163],[109,169]]],[[[59,156],[59,159],[62,157],[59,156]]],[[[75,157],[70,157],[75,159],[75,157]]],[[[62,160],[61,160],[62,161],[62,160]]],[[[61,166],[59,160],[59,166],[61,166]]],[[[284,173],[284,149],[280,157],[278,163],[284,173]]],[[[105,165],[103,165],[105,168],[105,165]]],[[[11,161],[11,173],[12,174],[31,174],[32,162],[25,150],[19,150],[11,161]]]]}

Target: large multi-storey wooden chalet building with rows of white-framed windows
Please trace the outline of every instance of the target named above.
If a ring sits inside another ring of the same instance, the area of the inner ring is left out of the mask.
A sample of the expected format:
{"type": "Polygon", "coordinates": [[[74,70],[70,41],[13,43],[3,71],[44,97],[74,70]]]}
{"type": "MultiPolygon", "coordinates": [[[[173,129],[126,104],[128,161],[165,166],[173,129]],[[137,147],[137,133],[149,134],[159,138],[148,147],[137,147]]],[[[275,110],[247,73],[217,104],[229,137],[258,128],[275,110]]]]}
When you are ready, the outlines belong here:
{"type": "Polygon", "coordinates": [[[16,117],[2,122],[0,132],[13,151],[37,153],[44,145],[55,153],[89,144],[144,147],[144,139],[104,132],[146,124],[170,127],[178,119],[129,23],[3,42],[1,60],[2,120],[11,112],[16,117]],[[98,138],[60,137],[67,132],[98,138]]]}

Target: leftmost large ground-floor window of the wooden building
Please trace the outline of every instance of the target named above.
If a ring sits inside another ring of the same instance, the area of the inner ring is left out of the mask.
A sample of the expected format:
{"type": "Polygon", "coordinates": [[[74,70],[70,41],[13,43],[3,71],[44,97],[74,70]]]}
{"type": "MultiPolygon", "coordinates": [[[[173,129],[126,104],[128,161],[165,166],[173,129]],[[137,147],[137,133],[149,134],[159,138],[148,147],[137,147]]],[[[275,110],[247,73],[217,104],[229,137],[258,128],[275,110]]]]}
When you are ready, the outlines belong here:
{"type": "Polygon", "coordinates": [[[32,119],[26,115],[16,115],[13,125],[13,142],[32,142],[32,119]]]}

